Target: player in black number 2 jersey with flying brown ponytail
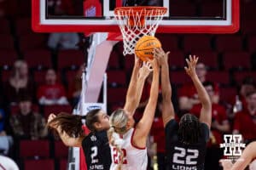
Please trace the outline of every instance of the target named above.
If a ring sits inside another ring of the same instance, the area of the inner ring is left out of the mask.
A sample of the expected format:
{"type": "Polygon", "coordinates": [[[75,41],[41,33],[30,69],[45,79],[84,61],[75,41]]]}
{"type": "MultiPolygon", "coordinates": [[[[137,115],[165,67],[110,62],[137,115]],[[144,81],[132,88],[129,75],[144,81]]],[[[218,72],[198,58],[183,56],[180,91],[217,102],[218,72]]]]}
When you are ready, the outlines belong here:
{"type": "MultiPolygon", "coordinates": [[[[143,91],[143,84],[150,72],[147,65],[141,67],[141,60],[135,59],[131,82],[126,94],[125,111],[133,114],[143,91]],[[138,81],[138,79],[140,81],[138,81]]],[[[88,169],[109,169],[111,164],[107,130],[110,127],[108,115],[101,110],[89,111],[86,116],[61,113],[58,116],[49,115],[48,127],[57,131],[61,140],[67,146],[82,147],[88,169]],[[82,120],[90,129],[84,134],[82,120]]]]}

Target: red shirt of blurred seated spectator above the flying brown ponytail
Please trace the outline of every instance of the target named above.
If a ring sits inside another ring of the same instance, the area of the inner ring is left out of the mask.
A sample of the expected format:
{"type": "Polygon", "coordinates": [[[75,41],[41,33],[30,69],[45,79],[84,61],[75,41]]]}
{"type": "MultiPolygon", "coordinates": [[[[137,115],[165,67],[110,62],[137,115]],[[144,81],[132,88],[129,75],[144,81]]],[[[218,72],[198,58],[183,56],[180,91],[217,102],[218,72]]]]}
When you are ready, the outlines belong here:
{"type": "Polygon", "coordinates": [[[38,99],[41,97],[46,99],[60,99],[66,97],[65,89],[61,84],[43,85],[38,88],[38,99]]]}

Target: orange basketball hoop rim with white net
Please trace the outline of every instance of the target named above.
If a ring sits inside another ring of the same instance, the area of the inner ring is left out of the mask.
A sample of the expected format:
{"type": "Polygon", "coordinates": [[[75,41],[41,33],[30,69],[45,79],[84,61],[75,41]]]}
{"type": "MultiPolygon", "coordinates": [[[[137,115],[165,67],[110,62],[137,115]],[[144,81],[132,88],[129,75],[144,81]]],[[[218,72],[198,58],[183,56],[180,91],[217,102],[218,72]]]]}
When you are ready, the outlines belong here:
{"type": "Polygon", "coordinates": [[[134,47],[140,37],[154,36],[160,21],[166,14],[165,7],[119,7],[114,9],[115,20],[123,35],[123,54],[134,54],[134,47]]]}

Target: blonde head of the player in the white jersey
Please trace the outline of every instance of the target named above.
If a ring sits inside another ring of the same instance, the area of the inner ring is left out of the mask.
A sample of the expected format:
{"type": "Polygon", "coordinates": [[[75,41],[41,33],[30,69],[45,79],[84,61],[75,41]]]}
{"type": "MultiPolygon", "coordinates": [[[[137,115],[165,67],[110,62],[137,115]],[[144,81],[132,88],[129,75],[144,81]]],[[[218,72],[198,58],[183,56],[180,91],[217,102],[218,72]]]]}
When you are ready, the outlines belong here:
{"type": "Polygon", "coordinates": [[[110,126],[115,133],[124,134],[134,125],[133,117],[123,109],[113,111],[109,118],[110,126]]]}

